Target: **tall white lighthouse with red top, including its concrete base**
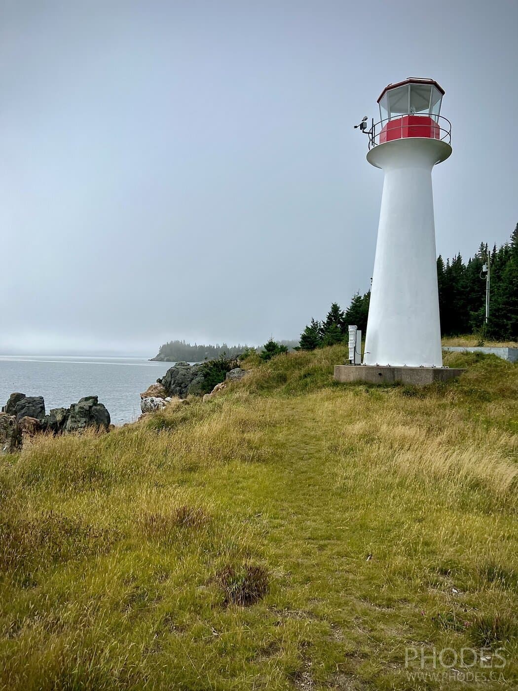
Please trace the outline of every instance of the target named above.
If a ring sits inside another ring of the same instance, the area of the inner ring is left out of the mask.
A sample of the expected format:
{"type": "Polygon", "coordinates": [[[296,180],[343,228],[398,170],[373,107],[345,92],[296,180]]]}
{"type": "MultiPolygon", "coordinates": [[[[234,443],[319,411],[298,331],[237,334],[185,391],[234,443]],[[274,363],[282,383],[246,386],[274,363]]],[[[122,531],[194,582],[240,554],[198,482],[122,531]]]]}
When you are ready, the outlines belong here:
{"type": "Polygon", "coordinates": [[[335,366],[338,381],[428,384],[459,375],[443,368],[432,169],[452,153],[441,115],[444,90],[409,77],[378,98],[380,120],[367,131],[367,161],[383,170],[364,366],[335,366]]]}

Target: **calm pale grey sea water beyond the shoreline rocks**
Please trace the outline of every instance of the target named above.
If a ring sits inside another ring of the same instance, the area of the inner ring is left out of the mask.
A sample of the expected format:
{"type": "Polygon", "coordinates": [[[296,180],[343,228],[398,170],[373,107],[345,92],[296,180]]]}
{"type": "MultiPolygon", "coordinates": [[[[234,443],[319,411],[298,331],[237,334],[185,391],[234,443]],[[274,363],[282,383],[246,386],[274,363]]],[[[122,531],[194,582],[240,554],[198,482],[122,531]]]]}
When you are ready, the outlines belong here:
{"type": "Polygon", "coordinates": [[[132,357],[64,357],[0,355],[0,405],[13,391],[43,396],[50,408],[99,396],[115,425],[140,415],[140,392],[163,377],[173,362],[148,362],[132,357]]]}

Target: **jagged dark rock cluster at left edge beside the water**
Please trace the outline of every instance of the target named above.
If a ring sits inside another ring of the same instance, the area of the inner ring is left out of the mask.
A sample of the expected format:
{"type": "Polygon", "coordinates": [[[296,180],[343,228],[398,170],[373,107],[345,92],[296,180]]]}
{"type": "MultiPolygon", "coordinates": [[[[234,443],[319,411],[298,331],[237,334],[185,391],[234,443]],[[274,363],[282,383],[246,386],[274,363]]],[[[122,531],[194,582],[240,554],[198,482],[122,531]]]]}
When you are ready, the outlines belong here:
{"type": "Polygon", "coordinates": [[[0,453],[21,451],[41,433],[78,434],[87,428],[108,432],[112,426],[97,396],[85,396],[69,408],[52,408],[46,415],[42,396],[14,392],[0,413],[0,453]]]}

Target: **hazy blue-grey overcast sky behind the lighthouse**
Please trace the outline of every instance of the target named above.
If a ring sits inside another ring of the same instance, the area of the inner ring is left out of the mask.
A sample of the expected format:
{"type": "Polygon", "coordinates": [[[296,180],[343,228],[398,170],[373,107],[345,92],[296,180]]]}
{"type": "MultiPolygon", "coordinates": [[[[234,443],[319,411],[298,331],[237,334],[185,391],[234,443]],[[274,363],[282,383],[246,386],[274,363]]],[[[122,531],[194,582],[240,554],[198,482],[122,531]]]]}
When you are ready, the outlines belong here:
{"type": "MultiPolygon", "coordinates": [[[[0,0],[0,353],[294,339],[366,292],[353,129],[437,79],[437,253],[518,221],[516,0],[0,0]]],[[[378,118],[377,118],[378,119],[378,118]]]]}

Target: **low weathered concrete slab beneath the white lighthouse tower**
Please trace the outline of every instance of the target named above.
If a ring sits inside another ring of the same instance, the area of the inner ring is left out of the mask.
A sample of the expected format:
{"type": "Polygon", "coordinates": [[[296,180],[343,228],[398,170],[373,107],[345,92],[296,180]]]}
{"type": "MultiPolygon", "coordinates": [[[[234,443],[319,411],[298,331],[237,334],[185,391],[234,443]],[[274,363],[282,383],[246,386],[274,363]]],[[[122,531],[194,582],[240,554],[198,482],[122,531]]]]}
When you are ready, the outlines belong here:
{"type": "Polygon", "coordinates": [[[412,384],[426,386],[433,381],[448,381],[462,372],[450,367],[390,367],[377,365],[335,365],[334,380],[342,384],[365,381],[367,384],[412,384]]]}

